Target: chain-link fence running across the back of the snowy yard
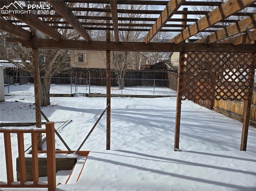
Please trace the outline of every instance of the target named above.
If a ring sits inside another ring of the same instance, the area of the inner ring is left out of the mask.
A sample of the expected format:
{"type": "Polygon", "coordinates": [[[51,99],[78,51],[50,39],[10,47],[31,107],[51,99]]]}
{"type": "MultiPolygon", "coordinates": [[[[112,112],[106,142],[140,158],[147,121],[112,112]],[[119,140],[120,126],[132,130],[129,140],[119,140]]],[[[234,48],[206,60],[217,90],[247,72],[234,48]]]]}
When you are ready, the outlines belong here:
{"type": "MultiPolygon", "coordinates": [[[[175,80],[165,79],[111,79],[111,94],[123,95],[176,95],[170,89],[175,80]]],[[[34,94],[33,77],[4,76],[4,93],[6,95],[34,94]]],[[[106,78],[53,77],[50,94],[106,94],[106,78]]]]}

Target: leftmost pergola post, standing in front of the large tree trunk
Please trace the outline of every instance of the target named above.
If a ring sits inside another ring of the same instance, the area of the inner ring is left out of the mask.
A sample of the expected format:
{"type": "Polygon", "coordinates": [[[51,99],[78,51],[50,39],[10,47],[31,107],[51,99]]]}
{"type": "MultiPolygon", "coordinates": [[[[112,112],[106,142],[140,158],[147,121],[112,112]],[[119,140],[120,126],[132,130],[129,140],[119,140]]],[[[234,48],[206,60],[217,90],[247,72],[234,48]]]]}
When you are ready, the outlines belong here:
{"type": "MultiPolygon", "coordinates": [[[[32,29],[32,38],[36,38],[36,30],[32,29]]],[[[35,93],[35,104],[38,106],[38,108],[41,108],[41,102],[40,102],[40,73],[39,73],[39,63],[38,63],[38,48],[32,48],[32,58],[33,58],[33,78],[34,78],[34,93],[35,93]]],[[[36,127],[41,128],[42,127],[42,121],[41,121],[41,113],[40,110],[38,110],[37,107],[35,107],[36,112],[36,127]]],[[[42,150],[42,134],[38,134],[37,136],[37,149],[42,150]]]]}

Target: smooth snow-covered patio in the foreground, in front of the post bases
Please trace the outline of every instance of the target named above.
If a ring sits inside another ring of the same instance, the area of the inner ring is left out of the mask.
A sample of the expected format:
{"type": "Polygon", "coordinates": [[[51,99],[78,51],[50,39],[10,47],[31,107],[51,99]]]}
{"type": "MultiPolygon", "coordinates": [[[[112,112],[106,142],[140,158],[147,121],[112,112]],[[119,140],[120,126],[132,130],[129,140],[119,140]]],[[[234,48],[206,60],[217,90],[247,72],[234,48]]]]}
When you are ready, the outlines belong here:
{"type": "Polygon", "coordinates": [[[56,191],[242,190],[256,188],[249,152],[90,152],[74,185],[56,191]]]}

